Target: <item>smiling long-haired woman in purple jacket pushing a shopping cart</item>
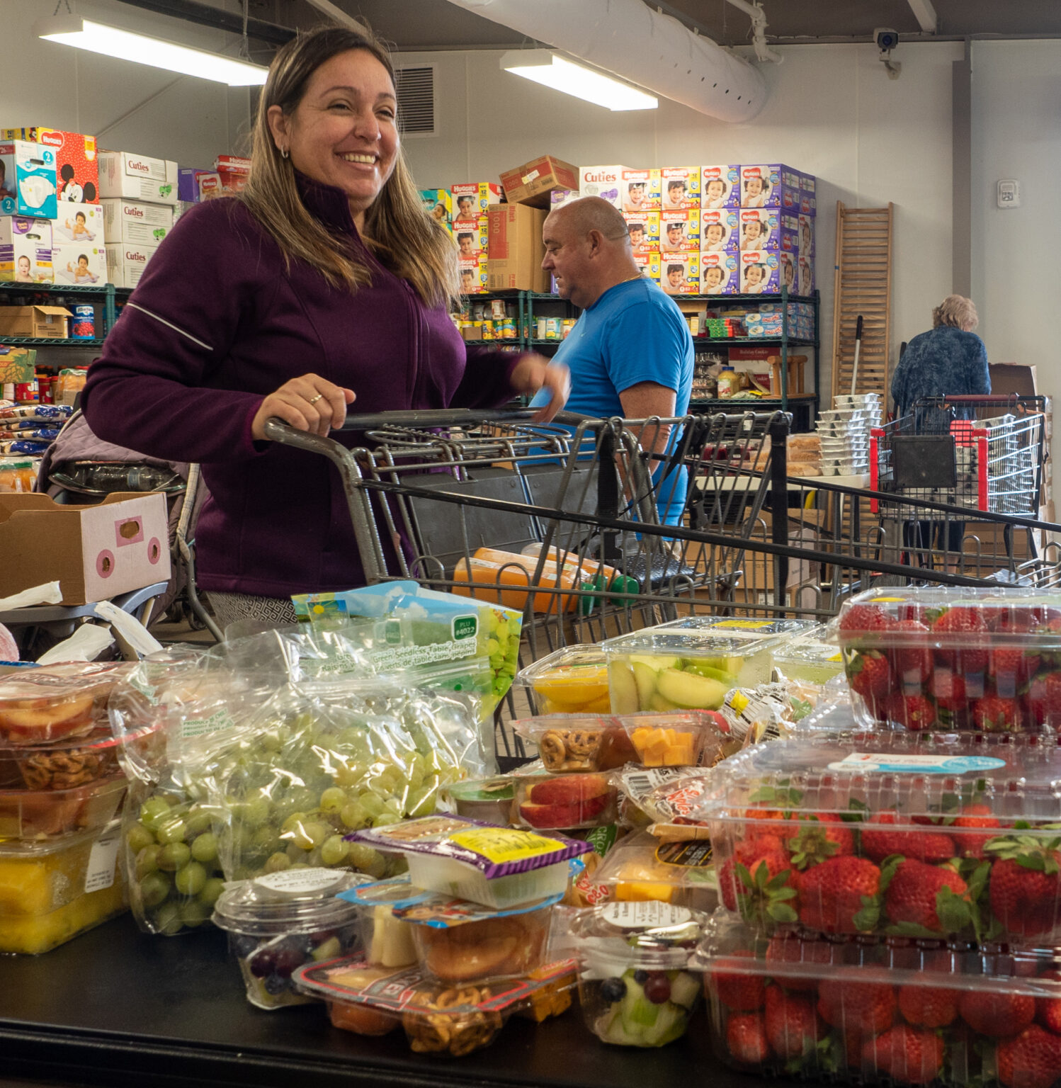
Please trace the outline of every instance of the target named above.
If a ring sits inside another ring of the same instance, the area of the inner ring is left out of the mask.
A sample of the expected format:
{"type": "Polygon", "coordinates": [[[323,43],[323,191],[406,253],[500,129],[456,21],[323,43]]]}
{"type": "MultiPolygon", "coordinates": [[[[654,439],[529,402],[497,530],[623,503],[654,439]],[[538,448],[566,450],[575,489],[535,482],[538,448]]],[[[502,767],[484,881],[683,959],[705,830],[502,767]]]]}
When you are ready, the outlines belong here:
{"type": "Polygon", "coordinates": [[[291,594],[363,584],[337,473],[262,441],[268,419],[326,435],[355,397],[375,412],[545,388],[543,419],[564,404],[566,368],[457,333],[456,247],[422,208],[397,108],[374,38],[329,27],[284,46],[245,190],[181,217],[89,372],[99,437],[202,465],[199,582],[226,620],[294,620],[291,594]]]}

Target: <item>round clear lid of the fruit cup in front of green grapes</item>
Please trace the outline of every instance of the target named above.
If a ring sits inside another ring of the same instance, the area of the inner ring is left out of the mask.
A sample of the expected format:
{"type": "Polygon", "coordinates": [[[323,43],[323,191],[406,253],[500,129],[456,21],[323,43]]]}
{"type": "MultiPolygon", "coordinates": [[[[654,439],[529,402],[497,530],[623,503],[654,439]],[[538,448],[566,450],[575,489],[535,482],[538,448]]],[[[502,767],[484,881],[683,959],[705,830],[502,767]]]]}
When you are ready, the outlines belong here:
{"type": "Polygon", "coordinates": [[[343,869],[306,868],[270,873],[230,883],[213,908],[219,929],[252,937],[311,934],[353,922],[359,907],[336,899],[372,878],[343,869]]]}

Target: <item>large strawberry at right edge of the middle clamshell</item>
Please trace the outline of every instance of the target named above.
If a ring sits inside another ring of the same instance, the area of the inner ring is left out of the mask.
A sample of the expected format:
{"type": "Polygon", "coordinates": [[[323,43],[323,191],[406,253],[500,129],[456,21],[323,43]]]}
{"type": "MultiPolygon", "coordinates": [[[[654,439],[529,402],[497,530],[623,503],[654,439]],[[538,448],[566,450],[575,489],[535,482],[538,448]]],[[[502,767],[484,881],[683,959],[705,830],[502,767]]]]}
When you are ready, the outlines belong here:
{"type": "Polygon", "coordinates": [[[996,919],[1015,937],[1048,934],[1061,914],[1061,839],[1031,834],[988,839],[991,866],[988,900],[996,919]]]}

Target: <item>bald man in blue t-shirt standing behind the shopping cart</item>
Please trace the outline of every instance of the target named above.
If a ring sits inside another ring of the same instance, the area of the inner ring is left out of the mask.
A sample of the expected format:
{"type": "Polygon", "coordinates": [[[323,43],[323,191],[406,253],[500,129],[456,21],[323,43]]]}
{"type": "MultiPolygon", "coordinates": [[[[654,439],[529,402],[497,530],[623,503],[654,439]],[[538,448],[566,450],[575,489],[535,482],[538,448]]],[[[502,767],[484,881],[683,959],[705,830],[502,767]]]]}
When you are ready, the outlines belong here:
{"type": "MultiPolygon", "coordinates": [[[[567,410],[588,416],[684,416],[692,391],[692,337],[681,310],[634,263],[622,213],[600,197],[563,205],[545,220],[542,268],[560,298],[582,310],[554,358],[571,371],[567,410]]],[[[678,435],[646,428],[642,445],[657,457],[678,435]]],[[[656,507],[678,524],[686,505],[684,468],[659,480],[656,507]]]]}

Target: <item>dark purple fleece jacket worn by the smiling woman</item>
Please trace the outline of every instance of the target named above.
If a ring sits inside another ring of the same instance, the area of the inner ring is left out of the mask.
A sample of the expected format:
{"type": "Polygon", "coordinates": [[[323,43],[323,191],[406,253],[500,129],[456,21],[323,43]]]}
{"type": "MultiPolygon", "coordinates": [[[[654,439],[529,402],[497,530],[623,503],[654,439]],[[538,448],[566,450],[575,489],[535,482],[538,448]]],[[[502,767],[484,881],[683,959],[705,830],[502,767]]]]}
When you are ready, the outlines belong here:
{"type": "MultiPolygon", "coordinates": [[[[325,458],[255,443],[264,396],[299,374],[354,390],[351,410],[486,407],[510,396],[519,356],[466,351],[443,307],[361,243],[340,189],[299,176],[306,207],[371,269],[355,295],[280,249],[237,199],[182,215],[89,369],[83,406],[104,442],[198,461],[205,590],[284,597],[365,583],[338,473],[325,458]]],[[[333,435],[347,446],[359,435],[333,435]]]]}

